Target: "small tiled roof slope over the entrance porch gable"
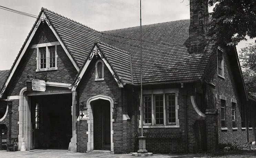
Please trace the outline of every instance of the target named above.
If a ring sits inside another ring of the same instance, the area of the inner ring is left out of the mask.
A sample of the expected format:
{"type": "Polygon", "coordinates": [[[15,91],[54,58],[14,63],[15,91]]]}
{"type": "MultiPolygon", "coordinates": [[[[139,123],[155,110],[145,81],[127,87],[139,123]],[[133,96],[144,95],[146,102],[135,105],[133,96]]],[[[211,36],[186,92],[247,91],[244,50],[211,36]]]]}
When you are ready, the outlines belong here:
{"type": "Polygon", "coordinates": [[[130,54],[103,42],[96,44],[121,82],[132,84],[130,54]]]}

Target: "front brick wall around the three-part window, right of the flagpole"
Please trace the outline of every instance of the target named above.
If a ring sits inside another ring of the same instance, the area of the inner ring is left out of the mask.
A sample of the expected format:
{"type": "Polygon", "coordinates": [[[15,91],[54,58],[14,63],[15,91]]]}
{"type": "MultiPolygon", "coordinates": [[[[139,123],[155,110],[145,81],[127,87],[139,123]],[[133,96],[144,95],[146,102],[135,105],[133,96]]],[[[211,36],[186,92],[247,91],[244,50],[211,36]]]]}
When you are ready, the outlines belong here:
{"type": "MultiPolygon", "coordinates": [[[[147,89],[154,89],[154,88],[178,88],[180,85],[164,85],[164,86],[147,86],[147,89]]],[[[146,89],[144,88],[144,89],[146,89]]],[[[179,88],[178,92],[178,119],[179,119],[179,128],[143,128],[143,133],[145,135],[147,133],[155,133],[156,135],[171,135],[171,137],[162,137],[162,138],[146,138],[146,149],[149,152],[153,153],[185,153],[186,152],[186,145],[188,146],[188,153],[196,153],[200,149],[197,147],[202,144],[201,138],[206,139],[205,136],[205,124],[198,125],[200,127],[200,135],[199,142],[196,142],[195,136],[195,124],[198,121],[204,122],[202,116],[198,115],[193,108],[190,96],[194,95],[195,84],[184,84],[184,88],[179,88]],[[187,141],[185,139],[185,106],[184,100],[186,99],[187,105],[187,141]],[[177,138],[178,137],[178,138],[177,138]]],[[[138,91],[136,91],[138,93],[138,91]]],[[[138,94],[135,96],[139,96],[138,94]]],[[[139,111],[139,104],[140,100],[139,97],[136,98],[136,106],[137,106],[137,131],[140,132],[139,128],[139,121],[140,121],[140,111],[139,111]]],[[[198,136],[198,135],[197,135],[198,136]]],[[[203,140],[202,140],[203,141],[203,140]]]]}

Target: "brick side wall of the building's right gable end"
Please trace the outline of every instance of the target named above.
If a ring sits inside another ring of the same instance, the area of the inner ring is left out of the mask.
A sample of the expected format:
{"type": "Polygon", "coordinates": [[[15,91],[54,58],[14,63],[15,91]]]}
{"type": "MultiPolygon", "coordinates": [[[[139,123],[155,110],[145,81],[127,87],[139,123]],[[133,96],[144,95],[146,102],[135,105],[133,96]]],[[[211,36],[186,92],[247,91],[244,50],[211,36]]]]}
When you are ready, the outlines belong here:
{"type": "MultiPolygon", "coordinates": [[[[214,54],[211,56],[208,67],[206,69],[205,80],[212,82],[216,87],[210,84],[206,85],[205,91],[207,94],[207,108],[218,110],[218,143],[227,142],[247,142],[247,129],[241,127],[241,106],[246,107],[245,95],[242,93],[242,83],[239,81],[240,74],[237,70],[235,58],[233,58],[234,50],[226,49],[223,53],[224,57],[224,77],[219,77],[217,72],[217,54],[216,49],[214,54]],[[226,97],[226,127],[227,130],[221,129],[221,99],[219,95],[226,97]],[[236,126],[237,130],[232,129],[232,102],[231,99],[236,100],[236,126]]],[[[250,131],[249,131],[250,133],[250,131]]],[[[252,133],[252,132],[251,132],[252,133]]],[[[255,139],[254,139],[255,140],[255,139]]]]}

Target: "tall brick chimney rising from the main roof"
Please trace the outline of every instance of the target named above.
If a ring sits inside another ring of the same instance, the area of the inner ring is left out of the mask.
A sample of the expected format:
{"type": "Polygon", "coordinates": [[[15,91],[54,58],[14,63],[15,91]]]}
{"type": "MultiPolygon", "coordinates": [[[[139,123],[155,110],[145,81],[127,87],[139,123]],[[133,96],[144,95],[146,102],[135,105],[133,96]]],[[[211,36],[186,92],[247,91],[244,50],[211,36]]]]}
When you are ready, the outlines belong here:
{"type": "Polygon", "coordinates": [[[203,53],[208,32],[208,0],[190,0],[190,53],[203,53]]]}

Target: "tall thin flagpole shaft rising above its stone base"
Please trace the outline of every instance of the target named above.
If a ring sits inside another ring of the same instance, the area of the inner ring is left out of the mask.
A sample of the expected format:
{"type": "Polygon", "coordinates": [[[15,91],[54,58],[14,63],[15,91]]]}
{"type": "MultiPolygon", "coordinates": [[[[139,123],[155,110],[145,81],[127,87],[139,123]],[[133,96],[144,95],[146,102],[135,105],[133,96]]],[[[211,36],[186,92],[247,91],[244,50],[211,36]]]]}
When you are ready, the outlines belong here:
{"type": "MultiPolygon", "coordinates": [[[[140,22],[141,22],[141,0],[140,0],[140,22]]],[[[141,25],[140,25],[141,32],[141,25]]],[[[141,37],[142,38],[142,37],[141,37]]],[[[143,137],[143,97],[142,97],[142,39],[141,39],[141,136],[143,137]]]]}

